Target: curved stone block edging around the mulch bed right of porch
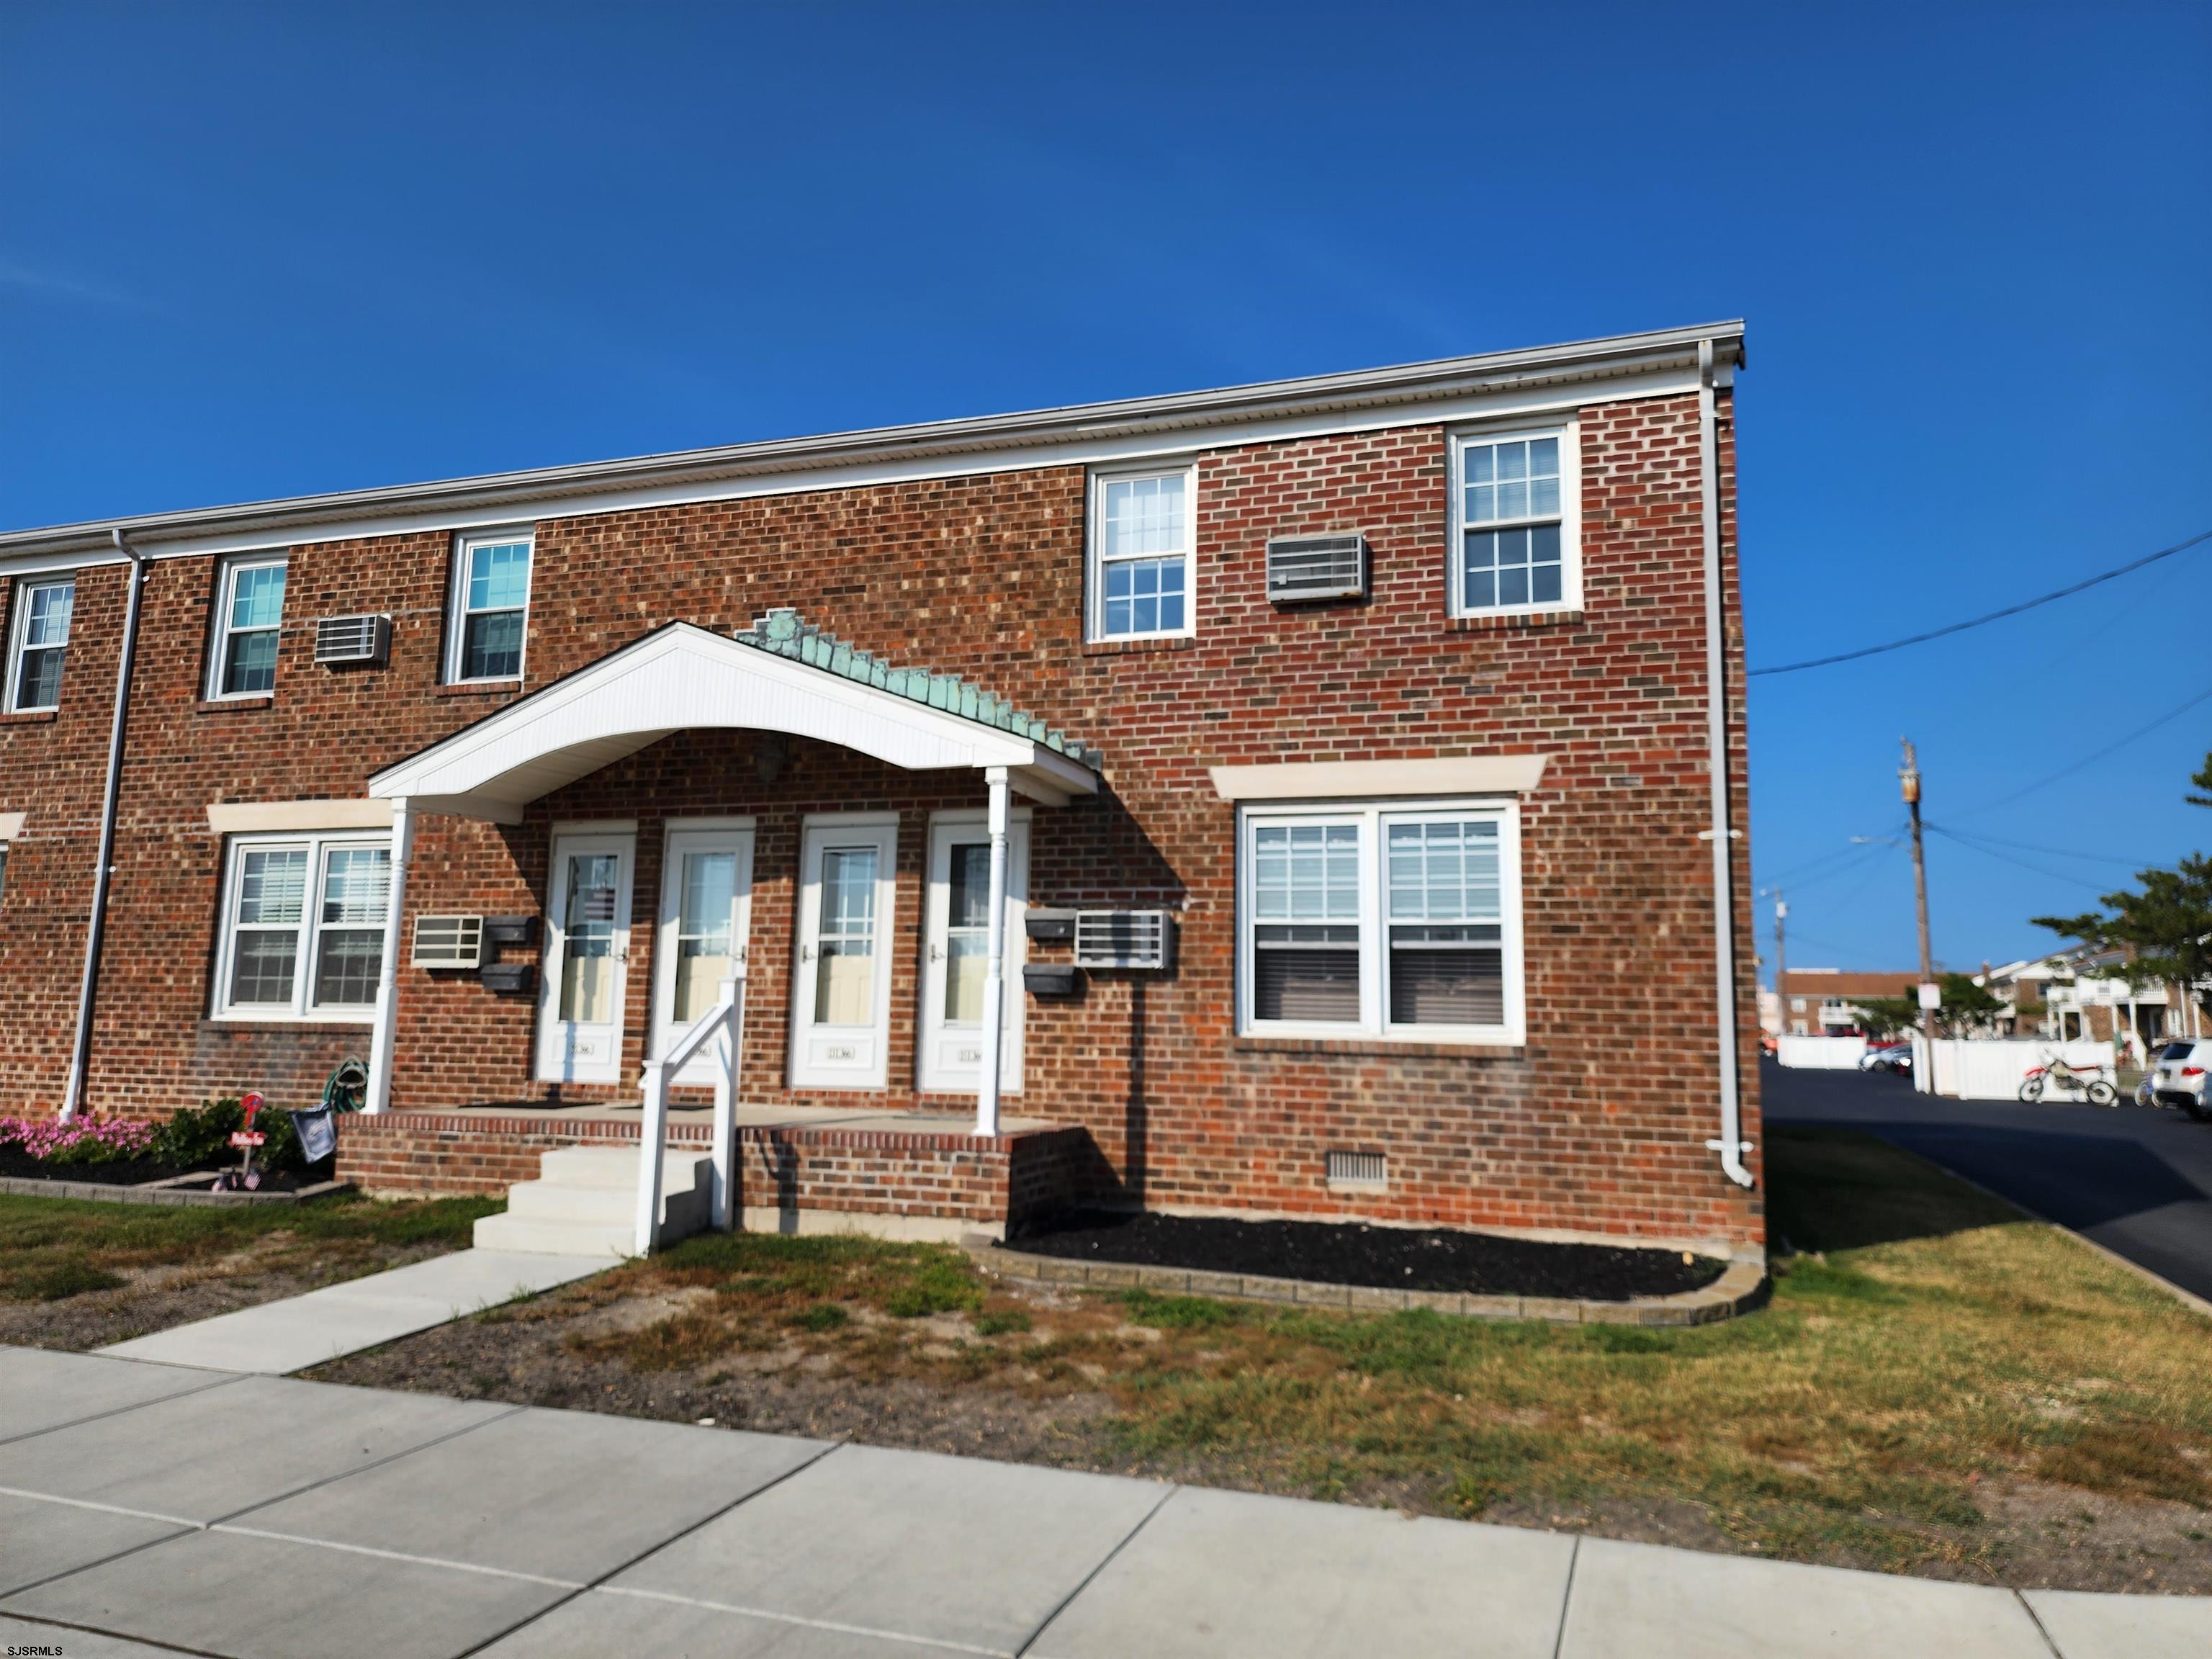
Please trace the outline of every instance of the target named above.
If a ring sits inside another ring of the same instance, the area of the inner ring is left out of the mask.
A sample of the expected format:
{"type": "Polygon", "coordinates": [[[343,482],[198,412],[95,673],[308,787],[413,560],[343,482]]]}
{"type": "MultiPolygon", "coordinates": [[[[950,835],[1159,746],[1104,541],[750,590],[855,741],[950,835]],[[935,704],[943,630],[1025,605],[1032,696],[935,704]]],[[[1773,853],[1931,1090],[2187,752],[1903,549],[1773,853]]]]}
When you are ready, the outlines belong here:
{"type": "Polygon", "coordinates": [[[1721,1276],[1701,1290],[1686,1290],[1672,1296],[1635,1296],[1617,1303],[1568,1296],[1325,1285],[1312,1279],[1150,1267],[1128,1261],[1066,1261],[1062,1256],[1031,1256],[1020,1250],[1006,1250],[982,1232],[964,1234],[960,1248],[984,1272],[1004,1279],[1026,1279],[1031,1283],[1296,1303],[1356,1314],[1396,1314],[1425,1307],[1458,1318],[1542,1318],[1555,1325],[1712,1325],[1763,1307],[1774,1287],[1767,1279],[1765,1252],[1756,1245],[1736,1250],[1721,1276]]]}

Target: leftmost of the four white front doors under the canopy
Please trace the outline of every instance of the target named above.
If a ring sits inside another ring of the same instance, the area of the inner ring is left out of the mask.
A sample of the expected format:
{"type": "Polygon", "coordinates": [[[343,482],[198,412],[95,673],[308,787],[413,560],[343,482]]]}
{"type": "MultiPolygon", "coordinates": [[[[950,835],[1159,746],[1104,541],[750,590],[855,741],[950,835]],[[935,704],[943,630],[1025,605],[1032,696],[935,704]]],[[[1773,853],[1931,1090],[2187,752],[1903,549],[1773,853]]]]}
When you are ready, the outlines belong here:
{"type": "Polygon", "coordinates": [[[538,1077],[622,1082],[622,995],[630,960],[635,834],[560,834],[546,891],[538,1077]]]}

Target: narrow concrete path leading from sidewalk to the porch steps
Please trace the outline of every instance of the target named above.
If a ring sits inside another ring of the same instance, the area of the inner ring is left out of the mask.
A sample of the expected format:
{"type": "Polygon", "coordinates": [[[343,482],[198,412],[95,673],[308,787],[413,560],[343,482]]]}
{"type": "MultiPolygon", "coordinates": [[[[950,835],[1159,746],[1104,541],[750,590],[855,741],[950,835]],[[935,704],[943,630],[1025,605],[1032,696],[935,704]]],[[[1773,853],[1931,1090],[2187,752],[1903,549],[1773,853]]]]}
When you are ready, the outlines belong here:
{"type": "Polygon", "coordinates": [[[540,1256],[522,1250],[456,1250],[343,1285],[310,1290],[234,1314],[100,1349],[124,1360],[204,1365],[217,1371],[283,1376],[427,1332],[431,1325],[588,1279],[615,1265],[593,1256],[540,1256]]]}

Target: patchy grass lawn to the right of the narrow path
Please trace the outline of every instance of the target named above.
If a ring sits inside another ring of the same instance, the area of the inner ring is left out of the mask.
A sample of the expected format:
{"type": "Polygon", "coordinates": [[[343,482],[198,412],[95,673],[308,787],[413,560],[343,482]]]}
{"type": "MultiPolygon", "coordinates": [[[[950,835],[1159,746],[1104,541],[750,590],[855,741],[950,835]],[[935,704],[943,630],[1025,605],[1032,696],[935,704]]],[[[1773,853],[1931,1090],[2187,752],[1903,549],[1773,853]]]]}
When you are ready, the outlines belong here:
{"type": "Polygon", "coordinates": [[[690,1239],[321,1376],[1584,1526],[1942,1577],[2212,1590],[2212,1325],[1849,1130],[1767,1144],[1765,1312],[1699,1329],[987,1283],[690,1239]]]}

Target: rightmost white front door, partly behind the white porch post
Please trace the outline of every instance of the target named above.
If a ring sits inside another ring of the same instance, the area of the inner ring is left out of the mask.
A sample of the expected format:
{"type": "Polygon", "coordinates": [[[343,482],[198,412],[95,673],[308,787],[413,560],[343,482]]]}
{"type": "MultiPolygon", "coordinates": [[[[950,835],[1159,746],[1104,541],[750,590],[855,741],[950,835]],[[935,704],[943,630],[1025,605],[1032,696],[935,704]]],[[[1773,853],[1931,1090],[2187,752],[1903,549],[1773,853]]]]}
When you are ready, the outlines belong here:
{"type": "MultiPolygon", "coordinates": [[[[1022,1093],[1022,958],[1029,942],[1029,823],[1006,825],[1006,1026],[1000,1088],[1022,1093]]],[[[982,814],[929,825],[929,918],[922,960],[920,1086],[973,1095],[982,1086],[982,987],[991,967],[991,830],[982,814]]]]}

